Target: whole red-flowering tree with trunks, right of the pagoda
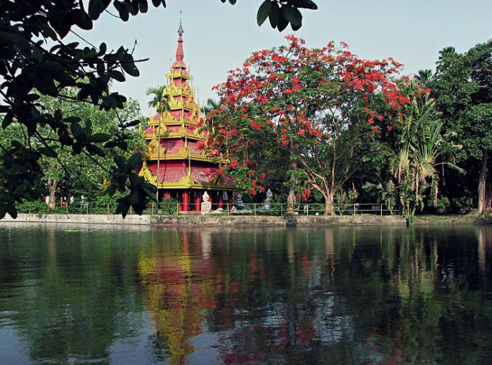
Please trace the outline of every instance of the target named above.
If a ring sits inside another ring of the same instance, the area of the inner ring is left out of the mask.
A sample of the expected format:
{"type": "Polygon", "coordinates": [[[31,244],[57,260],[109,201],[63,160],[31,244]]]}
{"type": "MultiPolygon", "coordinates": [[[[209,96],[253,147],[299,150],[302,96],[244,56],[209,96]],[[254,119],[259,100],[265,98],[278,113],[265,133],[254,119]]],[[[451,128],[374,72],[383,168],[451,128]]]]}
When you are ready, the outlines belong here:
{"type": "Polygon", "coordinates": [[[391,130],[410,104],[401,92],[405,81],[396,79],[401,64],[362,60],[343,42],[312,49],[302,39],[285,38],[287,46],[253,53],[215,87],[221,107],[209,114],[215,126],[209,145],[231,161],[226,172],[253,195],[264,190],[268,161],[280,157],[288,211],[296,192],[306,199],[310,188],[323,194],[330,211],[349,173],[342,170],[339,178],[337,172],[337,141],[347,126],[363,118],[366,131],[391,130]],[[383,100],[384,114],[370,109],[375,97],[383,100]]]}

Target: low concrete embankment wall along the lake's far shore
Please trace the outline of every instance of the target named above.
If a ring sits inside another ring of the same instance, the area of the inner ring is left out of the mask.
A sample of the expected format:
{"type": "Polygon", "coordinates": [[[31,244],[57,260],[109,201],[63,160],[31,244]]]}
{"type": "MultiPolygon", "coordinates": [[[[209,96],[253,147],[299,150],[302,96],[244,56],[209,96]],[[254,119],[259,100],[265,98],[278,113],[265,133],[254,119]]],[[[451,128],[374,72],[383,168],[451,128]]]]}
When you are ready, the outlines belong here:
{"type": "Polygon", "coordinates": [[[83,223],[105,225],[405,225],[399,215],[121,215],[106,214],[25,214],[17,219],[9,215],[0,223],[83,223]]]}

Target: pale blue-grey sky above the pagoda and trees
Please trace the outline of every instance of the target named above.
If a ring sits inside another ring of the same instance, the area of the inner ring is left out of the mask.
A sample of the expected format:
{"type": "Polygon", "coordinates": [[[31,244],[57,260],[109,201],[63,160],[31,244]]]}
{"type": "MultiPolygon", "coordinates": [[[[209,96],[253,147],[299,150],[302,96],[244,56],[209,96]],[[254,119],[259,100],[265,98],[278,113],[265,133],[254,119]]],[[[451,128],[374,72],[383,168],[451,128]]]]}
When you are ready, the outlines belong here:
{"type": "MultiPolygon", "coordinates": [[[[140,77],[115,81],[112,90],[138,100],[143,115],[148,114],[150,100],[145,90],[166,84],[180,11],[185,62],[200,104],[215,98],[212,86],[226,79],[228,69],[240,67],[253,51],[285,44],[287,34],[296,34],[311,47],[345,41],[361,58],[391,56],[405,65],[404,74],[434,69],[446,46],[465,52],[492,38],[492,0],[315,0],[317,11],[302,11],[302,28],[293,32],[287,27],[282,33],[268,20],[258,27],[261,2],[238,0],[232,6],[220,0],[167,0],[167,8],[149,6],[148,13],[128,22],[104,13],[91,31],[77,33],[91,44],[105,41],[115,50],[131,49],[137,42],[134,58],[149,60],[138,64],[140,77]]],[[[117,13],[112,6],[108,10],[117,13]]]]}

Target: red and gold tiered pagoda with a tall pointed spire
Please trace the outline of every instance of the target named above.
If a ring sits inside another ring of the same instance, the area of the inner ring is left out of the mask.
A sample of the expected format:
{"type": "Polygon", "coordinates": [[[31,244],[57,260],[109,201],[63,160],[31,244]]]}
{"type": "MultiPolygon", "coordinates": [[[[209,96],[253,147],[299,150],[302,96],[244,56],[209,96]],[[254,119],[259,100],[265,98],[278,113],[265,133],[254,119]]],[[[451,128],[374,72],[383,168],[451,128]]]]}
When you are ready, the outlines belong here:
{"type": "Polygon", "coordinates": [[[148,152],[139,175],[157,186],[158,199],[177,199],[180,211],[201,211],[205,191],[212,209],[231,209],[232,193],[238,189],[230,177],[218,173],[226,161],[217,162],[205,152],[208,131],[202,128],[200,105],[195,102],[190,74],[183,60],[181,24],[178,34],[176,60],[167,74],[163,95],[169,110],[149,119],[144,135],[148,152]]]}

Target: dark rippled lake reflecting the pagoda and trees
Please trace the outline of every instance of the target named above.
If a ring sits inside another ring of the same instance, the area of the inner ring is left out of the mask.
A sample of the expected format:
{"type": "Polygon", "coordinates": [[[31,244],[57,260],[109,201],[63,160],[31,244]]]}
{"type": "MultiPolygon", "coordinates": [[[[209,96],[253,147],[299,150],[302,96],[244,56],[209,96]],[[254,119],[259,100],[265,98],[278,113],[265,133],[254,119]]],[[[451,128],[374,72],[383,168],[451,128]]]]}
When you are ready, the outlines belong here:
{"type": "Polygon", "coordinates": [[[490,364],[492,227],[0,224],[0,364],[490,364]]]}

